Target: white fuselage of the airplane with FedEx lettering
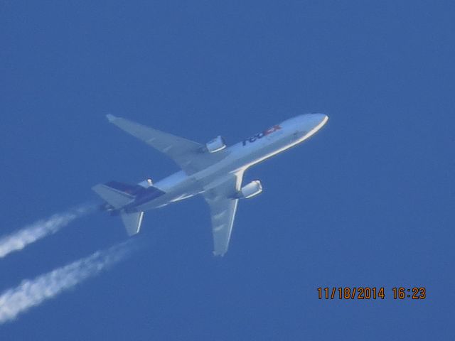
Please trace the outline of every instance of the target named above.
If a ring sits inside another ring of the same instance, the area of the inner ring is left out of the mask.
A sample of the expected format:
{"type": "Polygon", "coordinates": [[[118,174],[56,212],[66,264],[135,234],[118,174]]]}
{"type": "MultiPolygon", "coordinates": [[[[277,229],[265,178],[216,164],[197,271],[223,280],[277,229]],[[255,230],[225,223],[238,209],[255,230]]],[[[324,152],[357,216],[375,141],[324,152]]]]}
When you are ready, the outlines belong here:
{"type": "Polygon", "coordinates": [[[137,206],[137,209],[151,210],[210,190],[232,174],[243,173],[247,168],[300,144],[319,131],[327,121],[325,114],[303,114],[287,119],[226,148],[227,156],[203,171],[191,175],[179,171],[154,183],[154,187],[166,194],[137,206]]]}

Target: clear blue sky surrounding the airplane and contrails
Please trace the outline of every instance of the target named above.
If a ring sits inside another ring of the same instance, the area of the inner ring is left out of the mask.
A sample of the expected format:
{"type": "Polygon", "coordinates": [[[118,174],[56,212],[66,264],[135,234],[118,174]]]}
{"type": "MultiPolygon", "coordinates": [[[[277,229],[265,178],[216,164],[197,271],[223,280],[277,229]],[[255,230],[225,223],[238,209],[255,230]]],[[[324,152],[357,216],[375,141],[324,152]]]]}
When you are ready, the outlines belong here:
{"type": "MultiPolygon", "coordinates": [[[[4,1],[0,235],[177,170],[105,114],[228,144],[305,112],[313,139],[246,173],[230,251],[193,198],[146,247],[0,325],[1,340],[453,340],[451,1],[4,1]],[[320,301],[319,286],[384,286],[320,301]],[[425,301],[395,301],[424,286],[425,301]]],[[[94,214],[0,261],[0,291],[126,239],[94,214]]]]}

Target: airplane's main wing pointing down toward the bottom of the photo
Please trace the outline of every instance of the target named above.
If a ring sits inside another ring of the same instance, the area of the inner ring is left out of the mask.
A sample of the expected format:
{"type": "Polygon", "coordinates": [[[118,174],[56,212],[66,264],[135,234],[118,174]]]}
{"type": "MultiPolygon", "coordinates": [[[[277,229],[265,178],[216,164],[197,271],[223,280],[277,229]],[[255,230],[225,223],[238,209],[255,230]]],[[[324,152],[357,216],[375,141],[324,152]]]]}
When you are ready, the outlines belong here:
{"type": "Polygon", "coordinates": [[[213,233],[213,254],[223,256],[228,251],[232,225],[234,224],[237,198],[232,198],[242,186],[243,172],[230,175],[224,183],[203,193],[210,206],[213,233]]]}

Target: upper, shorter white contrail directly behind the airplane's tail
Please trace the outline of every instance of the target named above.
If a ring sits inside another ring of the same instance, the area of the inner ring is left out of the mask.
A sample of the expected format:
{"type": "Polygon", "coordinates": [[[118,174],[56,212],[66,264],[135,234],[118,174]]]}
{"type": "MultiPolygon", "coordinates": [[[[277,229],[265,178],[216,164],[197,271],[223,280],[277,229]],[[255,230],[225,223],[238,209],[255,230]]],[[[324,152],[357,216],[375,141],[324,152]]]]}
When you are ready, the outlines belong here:
{"type": "Polygon", "coordinates": [[[92,210],[94,210],[93,205],[81,205],[73,210],[52,215],[48,219],[33,222],[33,224],[29,224],[17,232],[2,237],[0,239],[0,259],[13,251],[23,249],[28,244],[36,242],[48,234],[58,232],[62,227],[65,227],[78,217],[87,215],[92,210]]]}

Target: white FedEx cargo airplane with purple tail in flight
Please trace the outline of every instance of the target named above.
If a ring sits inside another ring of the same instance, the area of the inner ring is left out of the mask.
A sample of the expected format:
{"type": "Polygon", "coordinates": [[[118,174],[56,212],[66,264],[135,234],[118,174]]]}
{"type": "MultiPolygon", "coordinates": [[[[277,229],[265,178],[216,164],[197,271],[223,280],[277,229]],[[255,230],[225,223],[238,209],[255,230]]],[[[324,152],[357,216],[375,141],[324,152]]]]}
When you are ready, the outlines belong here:
{"type": "Polygon", "coordinates": [[[156,183],[147,179],[137,185],[117,181],[95,185],[92,190],[106,202],[102,209],[119,215],[127,234],[132,236],[141,229],[146,210],[200,194],[210,207],[215,256],[228,251],[238,201],[262,192],[259,180],[242,185],[245,171],[309,139],[328,121],[326,114],[301,114],[227,147],[221,136],[199,144],[112,114],[106,117],[166,154],[181,171],[156,183]]]}

